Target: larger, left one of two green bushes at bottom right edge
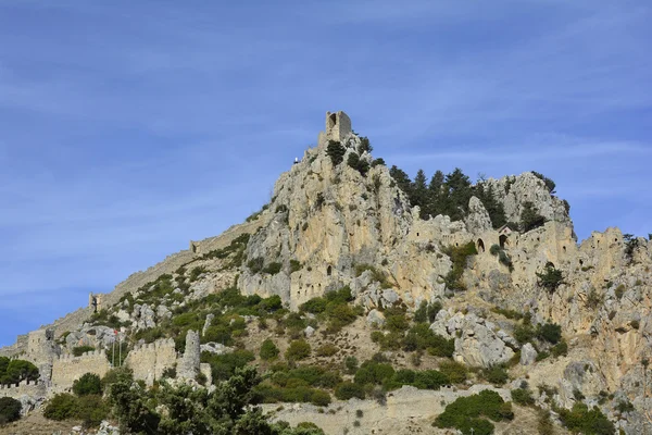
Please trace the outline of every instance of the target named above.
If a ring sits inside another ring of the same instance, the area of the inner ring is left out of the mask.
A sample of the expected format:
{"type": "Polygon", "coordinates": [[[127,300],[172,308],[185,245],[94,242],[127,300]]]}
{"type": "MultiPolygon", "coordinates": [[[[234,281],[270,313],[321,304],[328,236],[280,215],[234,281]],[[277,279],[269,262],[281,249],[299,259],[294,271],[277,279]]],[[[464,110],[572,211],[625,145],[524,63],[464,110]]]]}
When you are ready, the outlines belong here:
{"type": "Polygon", "coordinates": [[[461,397],[449,403],[446,410],[437,417],[432,425],[438,427],[454,427],[464,434],[492,434],[493,424],[481,419],[489,418],[496,422],[512,420],[511,403],[504,402],[500,395],[492,390],[484,390],[477,395],[461,397]]]}

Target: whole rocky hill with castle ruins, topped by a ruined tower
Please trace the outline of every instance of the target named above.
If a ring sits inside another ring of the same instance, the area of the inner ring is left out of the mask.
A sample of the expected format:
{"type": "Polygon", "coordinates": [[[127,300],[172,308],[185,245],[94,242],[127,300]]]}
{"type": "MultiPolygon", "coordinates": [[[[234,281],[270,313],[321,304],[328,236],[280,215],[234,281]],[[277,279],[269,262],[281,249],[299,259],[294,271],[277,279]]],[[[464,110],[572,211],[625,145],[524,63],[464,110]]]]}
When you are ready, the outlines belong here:
{"type": "MultiPolygon", "coordinates": [[[[247,222],[191,241],[187,251],[130,276],[113,293],[91,295],[88,308],[1,349],[1,356],[33,362],[40,380],[2,387],[0,397],[38,408],[85,373],[103,376],[122,362],[113,353],[106,358],[116,337],[125,346],[124,364],[154,385],[172,368],[177,380],[199,376],[211,384],[220,375],[212,358],[242,349],[264,371],[268,366],[258,357],[264,340],[283,351],[303,336],[313,348],[337,344],[333,353],[308,357],[315,365],[341,369],[347,358],[362,362],[383,352],[397,368],[436,369],[452,359],[471,374],[450,390],[403,383],[385,405],[351,399],[340,413],[314,405],[276,411],[290,423],[314,421],[334,434],[374,433],[341,418],[366,409],[376,422],[391,417],[396,424],[384,432],[377,423],[375,433],[432,431],[444,405],[489,388],[506,401],[514,390],[531,395],[530,408],[516,401],[523,409],[512,423],[500,423],[499,433],[537,433],[528,420],[536,418],[531,406],[552,412],[551,431],[574,431],[564,410],[577,403],[598,407],[615,430],[643,433],[652,405],[652,241],[614,227],[578,244],[569,204],[538,173],[476,185],[461,173],[441,186],[434,177],[430,192],[439,199],[424,199],[416,182],[406,183],[402,171],[371,152],[346,113],[327,113],[317,146],[280,175],[269,203],[247,222]],[[321,323],[331,313],[314,308],[315,301],[342,288],[350,291],[352,318],[321,323]],[[237,337],[225,338],[215,325],[228,307],[205,307],[233,290],[279,300],[290,312],[269,324],[240,313],[224,326],[237,337]],[[413,333],[427,335],[410,328],[424,323],[424,313],[427,334],[450,343],[450,352],[409,341],[413,333]],[[292,319],[300,333],[283,335],[292,319]],[[402,321],[405,327],[397,326],[402,321]],[[75,356],[84,347],[86,353],[75,356]],[[506,373],[503,382],[488,375],[497,368],[506,373]],[[428,401],[441,409],[419,406],[428,401]]],[[[344,382],[351,376],[344,373],[344,382]]]]}

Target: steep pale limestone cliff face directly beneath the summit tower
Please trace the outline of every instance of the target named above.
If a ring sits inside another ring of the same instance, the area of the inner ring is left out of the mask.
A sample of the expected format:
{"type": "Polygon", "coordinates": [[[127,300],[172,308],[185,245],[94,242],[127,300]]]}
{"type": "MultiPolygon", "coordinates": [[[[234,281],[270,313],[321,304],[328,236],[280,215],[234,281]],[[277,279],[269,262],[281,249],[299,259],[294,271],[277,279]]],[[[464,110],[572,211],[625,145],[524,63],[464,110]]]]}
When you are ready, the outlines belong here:
{"type": "MultiPolygon", "coordinates": [[[[247,258],[281,263],[281,271],[243,268],[238,286],[246,294],[280,295],[298,307],[342,285],[377,290],[379,283],[365,288],[354,283],[356,265],[373,265],[404,300],[442,295],[440,276],[450,261],[437,241],[469,239],[464,224],[444,216],[421,221],[385,165],[362,175],[346,163],[359,149],[359,137],[350,135],[343,145],[347,153],[338,165],[323,144],[279,177],[264,212],[268,224],[252,235],[247,258]]],[[[366,152],[360,159],[372,162],[366,152]]]]}

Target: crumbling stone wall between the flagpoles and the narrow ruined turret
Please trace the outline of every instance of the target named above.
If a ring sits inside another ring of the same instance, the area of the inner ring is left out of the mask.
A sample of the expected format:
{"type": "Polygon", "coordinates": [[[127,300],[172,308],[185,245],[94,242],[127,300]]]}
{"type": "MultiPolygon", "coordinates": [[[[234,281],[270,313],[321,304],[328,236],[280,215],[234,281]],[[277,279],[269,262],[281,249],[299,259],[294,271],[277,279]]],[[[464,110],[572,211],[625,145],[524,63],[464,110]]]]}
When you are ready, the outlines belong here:
{"type": "Polygon", "coordinates": [[[136,380],[143,380],[152,385],[163,377],[165,369],[173,368],[177,362],[174,339],[164,338],[134,348],[125,360],[125,365],[134,371],[136,380]]]}

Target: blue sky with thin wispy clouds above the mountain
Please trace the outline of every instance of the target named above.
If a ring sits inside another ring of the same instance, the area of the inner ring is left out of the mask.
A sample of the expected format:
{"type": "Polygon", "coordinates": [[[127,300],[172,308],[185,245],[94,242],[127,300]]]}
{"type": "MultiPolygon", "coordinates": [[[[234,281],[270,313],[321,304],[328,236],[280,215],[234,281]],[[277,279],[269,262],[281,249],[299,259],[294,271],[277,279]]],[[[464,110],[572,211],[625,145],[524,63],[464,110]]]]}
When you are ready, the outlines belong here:
{"type": "Polygon", "coordinates": [[[0,0],[0,345],[271,197],[344,110],[411,175],[652,232],[648,1],[0,0]]]}

